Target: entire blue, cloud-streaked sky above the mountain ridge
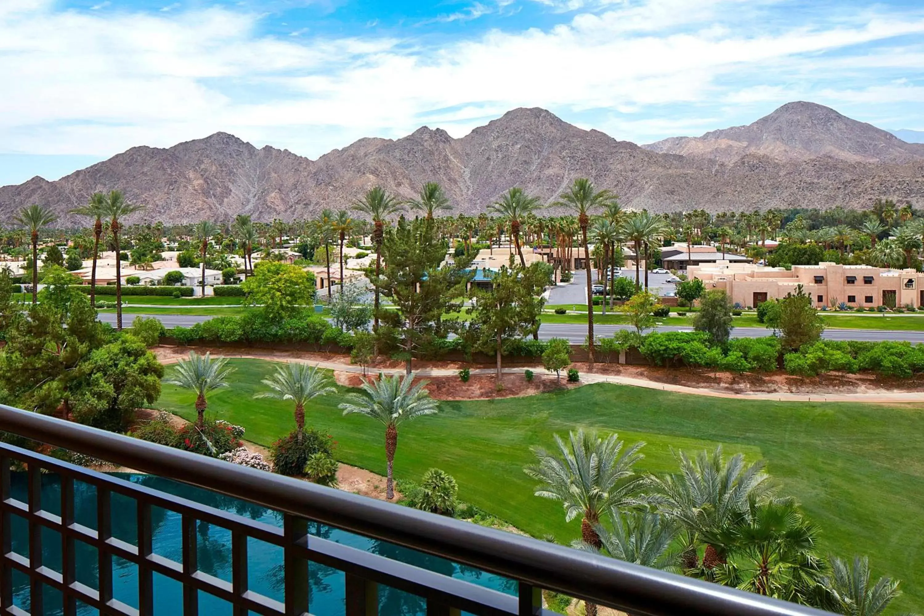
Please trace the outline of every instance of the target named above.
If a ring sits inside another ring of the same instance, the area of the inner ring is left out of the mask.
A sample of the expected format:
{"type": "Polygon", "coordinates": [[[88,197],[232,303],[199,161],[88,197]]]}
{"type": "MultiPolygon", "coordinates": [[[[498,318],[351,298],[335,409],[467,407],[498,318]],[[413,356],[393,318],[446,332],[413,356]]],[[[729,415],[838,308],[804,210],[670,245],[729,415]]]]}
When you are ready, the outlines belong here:
{"type": "Polygon", "coordinates": [[[0,185],[224,130],[316,158],[540,106],[647,143],[807,100],[924,130],[920,0],[0,0],[0,185]]]}

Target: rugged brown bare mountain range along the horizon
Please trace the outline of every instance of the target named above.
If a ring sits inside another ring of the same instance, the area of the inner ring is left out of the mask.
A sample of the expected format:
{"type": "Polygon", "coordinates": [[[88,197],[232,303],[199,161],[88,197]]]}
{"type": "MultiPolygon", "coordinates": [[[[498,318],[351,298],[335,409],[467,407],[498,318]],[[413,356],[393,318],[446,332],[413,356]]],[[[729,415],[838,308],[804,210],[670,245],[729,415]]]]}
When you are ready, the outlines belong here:
{"type": "Polygon", "coordinates": [[[312,161],[226,133],[172,148],[131,148],[48,182],[0,187],[0,215],[54,209],[59,223],[98,190],[118,187],[145,210],[129,222],[303,218],[346,208],[376,184],[403,198],[440,182],[456,212],[476,213],[509,187],[552,203],[575,177],[609,187],[626,208],[650,211],[865,207],[924,200],[924,144],[815,103],[787,103],[746,127],[638,146],[519,108],[461,139],[420,127],[402,139],[359,139],[312,161]]]}

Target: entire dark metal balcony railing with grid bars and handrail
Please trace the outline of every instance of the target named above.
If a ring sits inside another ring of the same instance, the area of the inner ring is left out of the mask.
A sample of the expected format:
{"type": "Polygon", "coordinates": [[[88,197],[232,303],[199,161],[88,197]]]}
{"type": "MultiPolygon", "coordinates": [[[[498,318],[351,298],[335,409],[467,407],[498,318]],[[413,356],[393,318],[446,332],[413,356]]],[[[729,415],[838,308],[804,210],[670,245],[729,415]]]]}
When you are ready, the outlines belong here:
{"type": "Polygon", "coordinates": [[[478,616],[533,616],[543,612],[540,592],[543,588],[638,615],[821,616],[825,613],[3,405],[0,405],[0,430],[230,497],[244,498],[283,513],[281,528],[267,525],[0,444],[0,536],[3,541],[0,613],[3,614],[43,614],[43,586],[51,586],[61,593],[67,616],[77,613],[78,602],[101,614],[147,616],[153,613],[155,599],[152,577],[160,574],[182,585],[184,616],[200,613],[200,591],[225,599],[235,616],[246,616],[248,612],[300,616],[309,612],[308,570],[312,562],[344,572],[346,616],[378,614],[379,585],[425,599],[428,616],[448,616],[460,611],[478,616]],[[27,501],[15,499],[11,491],[11,466],[16,462],[27,468],[27,501]],[[45,471],[60,477],[59,503],[43,502],[42,473],[45,471]],[[95,487],[96,528],[75,521],[75,481],[95,487]],[[119,515],[112,507],[114,495],[137,502],[137,513],[132,513],[137,516],[137,537],[132,541],[113,535],[114,516],[119,515]],[[152,507],[181,516],[180,562],[152,550],[152,507]],[[58,510],[60,514],[51,513],[49,509],[58,510]],[[28,525],[28,557],[12,550],[13,515],[24,518],[28,525]],[[230,581],[204,573],[197,563],[196,529],[203,522],[230,531],[230,581]],[[516,581],[517,596],[315,537],[308,532],[310,522],[505,576],[516,581]],[[43,563],[42,542],[47,538],[43,528],[60,534],[60,571],[43,563]],[[249,588],[249,538],[282,549],[283,601],[249,588]],[[77,541],[96,549],[95,562],[79,562],[75,550],[77,541]],[[114,597],[114,558],[137,566],[137,609],[114,597]],[[78,581],[78,569],[88,566],[98,567],[98,587],[78,581]],[[30,612],[14,605],[14,570],[29,579],[30,612]]]}

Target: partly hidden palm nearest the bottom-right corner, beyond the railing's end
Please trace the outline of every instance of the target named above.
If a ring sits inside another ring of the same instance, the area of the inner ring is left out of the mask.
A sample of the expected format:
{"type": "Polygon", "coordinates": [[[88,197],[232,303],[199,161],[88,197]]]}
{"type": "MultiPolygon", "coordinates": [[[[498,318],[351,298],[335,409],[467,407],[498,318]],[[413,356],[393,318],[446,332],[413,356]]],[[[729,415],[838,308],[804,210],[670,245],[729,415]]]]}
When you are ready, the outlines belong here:
{"type": "Polygon", "coordinates": [[[826,597],[820,606],[845,616],[879,616],[902,591],[899,581],[881,577],[869,585],[869,559],[854,557],[849,563],[831,559],[831,574],[821,578],[826,597]]]}

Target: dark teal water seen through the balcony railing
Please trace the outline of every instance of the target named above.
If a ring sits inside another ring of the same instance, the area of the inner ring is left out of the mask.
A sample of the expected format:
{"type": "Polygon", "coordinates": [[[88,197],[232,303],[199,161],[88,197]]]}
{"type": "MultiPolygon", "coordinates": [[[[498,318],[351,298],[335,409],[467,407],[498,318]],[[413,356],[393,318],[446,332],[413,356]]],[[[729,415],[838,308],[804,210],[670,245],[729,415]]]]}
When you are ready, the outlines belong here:
{"type": "MultiPolygon", "coordinates": [[[[116,474],[116,477],[132,483],[156,489],[190,501],[200,502],[215,509],[235,513],[267,525],[282,527],[282,513],[240,501],[214,492],[193,488],[185,484],[149,475],[116,474]]],[[[13,473],[12,496],[27,501],[27,484],[24,473],[13,473]]],[[[43,509],[49,513],[60,513],[60,482],[56,475],[43,475],[43,509]]],[[[96,489],[88,484],[76,482],[74,486],[75,522],[96,528],[96,489]]],[[[12,515],[13,551],[22,556],[29,555],[29,533],[25,519],[12,515]]],[[[181,516],[160,507],[152,508],[153,550],[156,554],[182,560],[181,516]]],[[[118,494],[112,495],[113,537],[137,545],[136,503],[133,499],[118,494]]],[[[516,595],[516,584],[498,575],[487,574],[477,569],[429,556],[415,550],[407,550],[385,541],[360,537],[330,526],[312,524],[310,534],[324,537],[338,543],[367,550],[395,561],[407,562],[431,571],[467,580],[479,586],[486,586],[506,594],[516,595]]],[[[231,581],[231,533],[216,525],[200,523],[198,527],[198,557],[201,572],[231,581]]],[[[98,586],[98,562],[96,549],[77,542],[77,581],[91,588],[98,586]]],[[[282,602],[283,595],[283,550],[268,543],[250,538],[248,545],[249,589],[282,602]]],[[[43,529],[43,564],[57,572],[61,571],[61,536],[57,531],[43,529]]],[[[133,608],[138,608],[137,566],[132,562],[113,558],[114,598],[133,608]]],[[[182,613],[182,586],[170,578],[154,574],[154,613],[157,616],[176,616],[182,613]]],[[[311,562],[309,564],[310,611],[319,616],[345,613],[344,574],[330,567],[311,562]]],[[[30,609],[29,581],[24,574],[14,572],[13,586],[15,604],[30,609]]],[[[54,588],[45,587],[43,592],[44,613],[62,613],[61,595],[54,588]]],[[[231,606],[222,599],[200,592],[200,613],[208,615],[231,615],[231,606]]],[[[426,611],[425,601],[395,588],[379,587],[379,613],[383,616],[417,616],[426,611]]],[[[90,606],[79,604],[78,613],[90,616],[98,613],[90,606]]]]}

